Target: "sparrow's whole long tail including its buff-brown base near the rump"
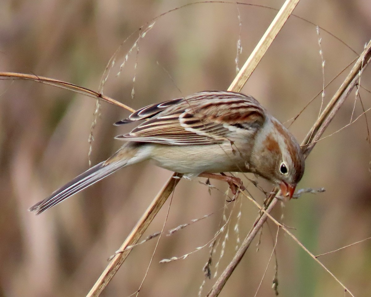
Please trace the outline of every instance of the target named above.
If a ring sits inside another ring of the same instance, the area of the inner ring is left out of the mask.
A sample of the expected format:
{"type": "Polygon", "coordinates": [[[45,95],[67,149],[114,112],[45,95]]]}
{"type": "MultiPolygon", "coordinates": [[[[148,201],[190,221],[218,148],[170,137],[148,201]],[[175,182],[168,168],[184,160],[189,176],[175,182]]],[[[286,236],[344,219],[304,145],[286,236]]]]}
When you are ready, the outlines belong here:
{"type": "Polygon", "coordinates": [[[127,145],[124,145],[106,161],[96,164],[95,166],[86,170],[84,173],[76,176],[63,187],[60,187],[49,197],[31,206],[29,211],[35,212],[36,215],[38,215],[39,213],[42,213],[59,202],[62,202],[68,197],[76,194],[77,192],[80,192],[86,187],[93,185],[93,183],[104,179],[106,176],[114,173],[116,170],[130,164],[138,163],[145,159],[147,159],[147,156],[144,152],[140,152],[140,150],[138,150],[138,146],[135,146],[135,144],[132,143],[127,143],[127,145]]]}

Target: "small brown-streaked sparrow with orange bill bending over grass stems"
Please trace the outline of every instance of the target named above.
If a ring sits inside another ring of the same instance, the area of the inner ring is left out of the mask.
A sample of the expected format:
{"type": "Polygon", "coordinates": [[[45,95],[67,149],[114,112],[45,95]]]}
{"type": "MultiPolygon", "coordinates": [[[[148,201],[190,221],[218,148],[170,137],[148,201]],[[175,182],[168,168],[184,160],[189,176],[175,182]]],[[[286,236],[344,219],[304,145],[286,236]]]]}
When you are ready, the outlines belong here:
{"type": "Polygon", "coordinates": [[[280,185],[292,197],[304,173],[304,157],[292,134],[251,96],[204,91],[152,104],[133,112],[121,125],[146,120],[116,136],[127,142],[29,210],[39,214],[116,170],[153,160],[158,166],[224,180],[234,194],[244,190],[239,178],[216,174],[252,172],[280,185]]]}

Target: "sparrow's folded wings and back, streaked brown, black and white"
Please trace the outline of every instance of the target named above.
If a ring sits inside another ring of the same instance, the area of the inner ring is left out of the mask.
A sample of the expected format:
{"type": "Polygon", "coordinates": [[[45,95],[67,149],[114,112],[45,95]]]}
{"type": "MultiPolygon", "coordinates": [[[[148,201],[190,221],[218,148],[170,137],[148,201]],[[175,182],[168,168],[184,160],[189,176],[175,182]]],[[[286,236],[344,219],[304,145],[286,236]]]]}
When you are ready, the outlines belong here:
{"type": "Polygon", "coordinates": [[[222,143],[229,140],[228,134],[237,128],[259,128],[265,121],[264,114],[263,107],[252,97],[205,91],[134,112],[122,123],[149,119],[116,138],[174,145],[222,143]],[[164,106],[167,107],[162,108],[164,106]]]}

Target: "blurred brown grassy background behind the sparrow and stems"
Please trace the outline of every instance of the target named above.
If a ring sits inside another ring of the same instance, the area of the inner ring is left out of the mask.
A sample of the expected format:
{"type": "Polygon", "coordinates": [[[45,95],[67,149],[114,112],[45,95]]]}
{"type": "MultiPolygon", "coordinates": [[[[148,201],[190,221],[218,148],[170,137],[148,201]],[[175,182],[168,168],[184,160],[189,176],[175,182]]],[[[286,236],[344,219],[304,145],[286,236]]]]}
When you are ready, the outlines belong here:
{"type": "MultiPolygon", "coordinates": [[[[1,0],[0,71],[33,73],[98,90],[109,59],[132,32],[159,14],[190,2],[1,0]]],[[[280,8],[283,1],[251,3],[280,8]]],[[[242,66],[276,12],[247,5],[238,5],[238,10],[242,20],[242,66]]],[[[371,4],[367,0],[302,0],[295,14],[326,28],[358,53],[371,37],[371,4]]],[[[226,89],[236,74],[237,15],[236,4],[226,3],[195,4],[166,14],[139,40],[138,55],[134,49],[116,77],[118,65],[138,33],[124,43],[104,93],[139,108],[206,89],[226,89]]],[[[357,56],[323,30],[320,35],[327,83],[357,56]]],[[[366,69],[361,78],[361,84],[368,89],[370,73],[371,69],[366,69]]],[[[325,102],[343,78],[341,75],[326,89],[325,102]]],[[[256,97],[285,122],[321,88],[316,28],[290,17],[243,92],[256,97]]],[[[29,206],[88,168],[88,136],[95,101],[19,80],[1,81],[0,93],[0,296],[85,296],[108,264],[106,259],[118,249],[171,173],[147,163],[128,167],[35,216],[27,211],[29,206]]],[[[370,94],[364,90],[360,94],[365,108],[370,107],[370,94]]],[[[326,135],[349,123],[354,98],[353,93],[326,135]]],[[[315,121],[320,105],[321,96],[290,127],[299,142],[315,121]]],[[[357,100],[355,115],[361,112],[357,100]]],[[[106,159],[120,146],[113,137],[131,127],[114,127],[112,123],[128,114],[102,104],[94,130],[93,163],[106,159]]],[[[307,159],[299,187],[325,187],[326,192],[303,195],[275,210],[276,218],[296,228],[292,232],[313,254],[371,236],[370,147],[366,137],[365,119],[361,117],[319,142],[307,159]]],[[[165,230],[216,213],[161,238],[139,296],[197,296],[209,248],[185,260],[158,262],[206,244],[218,229],[222,214],[219,209],[225,198],[216,190],[210,196],[198,180],[181,180],[165,230]]],[[[214,185],[222,192],[226,190],[226,185],[214,185]]],[[[260,185],[271,189],[267,182],[260,185]]],[[[248,187],[261,203],[262,194],[252,185],[248,187]]],[[[257,209],[247,199],[241,199],[239,236],[244,238],[257,209]]],[[[168,203],[146,236],[161,230],[168,203]]],[[[219,272],[234,254],[239,203],[233,210],[219,272]]],[[[269,226],[274,237],[275,225],[269,226]]],[[[221,296],[254,296],[272,252],[272,235],[267,226],[258,252],[256,244],[257,239],[221,296]]],[[[137,290],[154,246],[155,239],[135,248],[103,296],[129,296],[137,290]]],[[[344,296],[340,285],[283,232],[276,250],[280,296],[344,296]]],[[[214,265],[219,254],[220,244],[214,265]]],[[[371,241],[319,259],[355,296],[370,296],[371,241]]],[[[257,296],[274,296],[273,276],[274,260],[257,296]]],[[[207,280],[203,296],[213,281],[207,280]]]]}

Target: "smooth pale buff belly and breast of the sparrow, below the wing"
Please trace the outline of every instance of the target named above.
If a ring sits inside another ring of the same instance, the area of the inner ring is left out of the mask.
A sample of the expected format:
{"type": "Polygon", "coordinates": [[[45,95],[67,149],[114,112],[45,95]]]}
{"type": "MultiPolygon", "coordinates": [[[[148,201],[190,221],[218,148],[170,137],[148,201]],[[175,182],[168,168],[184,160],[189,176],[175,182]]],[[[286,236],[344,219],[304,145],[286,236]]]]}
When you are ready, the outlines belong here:
{"type": "Polygon", "coordinates": [[[197,176],[200,173],[249,172],[249,157],[227,144],[167,146],[152,144],[152,157],[157,166],[197,176]],[[241,157],[242,156],[242,157],[241,157]]]}

